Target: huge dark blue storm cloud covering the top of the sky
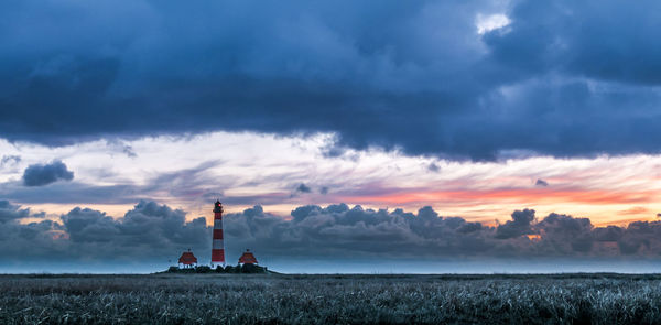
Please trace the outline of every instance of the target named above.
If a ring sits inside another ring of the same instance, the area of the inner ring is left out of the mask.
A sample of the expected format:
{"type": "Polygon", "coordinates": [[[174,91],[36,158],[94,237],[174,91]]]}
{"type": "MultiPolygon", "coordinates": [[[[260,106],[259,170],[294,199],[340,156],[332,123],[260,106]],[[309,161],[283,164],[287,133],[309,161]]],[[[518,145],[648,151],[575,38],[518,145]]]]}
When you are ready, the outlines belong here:
{"type": "Polygon", "coordinates": [[[657,1],[1,7],[11,140],[327,131],[329,155],[659,152],[657,1]],[[478,35],[492,13],[511,24],[478,35]]]}

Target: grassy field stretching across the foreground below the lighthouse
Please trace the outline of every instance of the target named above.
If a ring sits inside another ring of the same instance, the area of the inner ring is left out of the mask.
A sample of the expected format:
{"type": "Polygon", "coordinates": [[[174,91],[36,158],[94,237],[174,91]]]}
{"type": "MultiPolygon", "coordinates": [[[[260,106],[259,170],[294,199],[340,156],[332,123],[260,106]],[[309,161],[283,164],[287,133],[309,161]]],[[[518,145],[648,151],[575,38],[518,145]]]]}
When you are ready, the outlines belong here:
{"type": "Polygon", "coordinates": [[[661,275],[0,275],[0,324],[660,324],[661,275]]]}

